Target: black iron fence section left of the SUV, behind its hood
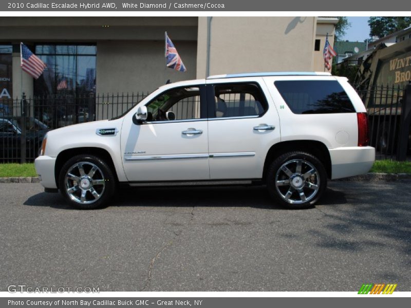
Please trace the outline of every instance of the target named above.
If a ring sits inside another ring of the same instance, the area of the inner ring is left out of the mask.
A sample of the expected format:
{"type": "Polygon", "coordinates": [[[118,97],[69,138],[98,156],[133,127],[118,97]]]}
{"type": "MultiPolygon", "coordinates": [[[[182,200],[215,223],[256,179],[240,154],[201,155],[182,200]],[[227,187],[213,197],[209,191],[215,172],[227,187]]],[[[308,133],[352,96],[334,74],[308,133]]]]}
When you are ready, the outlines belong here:
{"type": "Polygon", "coordinates": [[[2,100],[0,102],[0,163],[32,162],[44,134],[67,125],[118,117],[148,92],[88,94],[2,100]]]}

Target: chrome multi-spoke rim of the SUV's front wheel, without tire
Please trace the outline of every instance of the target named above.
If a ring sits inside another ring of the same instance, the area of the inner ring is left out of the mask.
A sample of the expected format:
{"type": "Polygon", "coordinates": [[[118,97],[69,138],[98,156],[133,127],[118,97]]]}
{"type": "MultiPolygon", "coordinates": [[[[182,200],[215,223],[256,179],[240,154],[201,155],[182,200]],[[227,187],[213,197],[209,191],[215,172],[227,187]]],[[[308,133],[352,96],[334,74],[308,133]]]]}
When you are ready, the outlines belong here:
{"type": "Polygon", "coordinates": [[[71,200],[80,204],[94,203],[103,195],[104,174],[93,163],[78,162],[68,169],[64,186],[71,200]]]}

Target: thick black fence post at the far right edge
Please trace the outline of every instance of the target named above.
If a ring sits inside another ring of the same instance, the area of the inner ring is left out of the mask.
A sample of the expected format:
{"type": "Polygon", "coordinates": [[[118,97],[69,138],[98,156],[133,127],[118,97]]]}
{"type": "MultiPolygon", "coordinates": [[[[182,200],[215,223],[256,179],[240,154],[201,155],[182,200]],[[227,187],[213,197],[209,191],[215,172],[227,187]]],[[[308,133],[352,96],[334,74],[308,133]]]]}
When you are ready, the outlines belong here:
{"type": "Polygon", "coordinates": [[[409,129],[411,125],[411,84],[405,86],[401,104],[400,134],[398,138],[397,160],[405,161],[407,158],[407,146],[409,129]]]}

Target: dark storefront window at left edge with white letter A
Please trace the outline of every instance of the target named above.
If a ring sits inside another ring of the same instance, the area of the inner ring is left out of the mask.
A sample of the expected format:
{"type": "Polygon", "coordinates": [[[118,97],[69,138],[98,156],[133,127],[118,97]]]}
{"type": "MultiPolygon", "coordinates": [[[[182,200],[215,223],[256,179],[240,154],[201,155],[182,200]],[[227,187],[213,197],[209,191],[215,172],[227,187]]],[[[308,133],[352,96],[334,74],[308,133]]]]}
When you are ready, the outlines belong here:
{"type": "Polygon", "coordinates": [[[12,84],[12,47],[0,45],[0,117],[11,111],[13,98],[12,84]]]}

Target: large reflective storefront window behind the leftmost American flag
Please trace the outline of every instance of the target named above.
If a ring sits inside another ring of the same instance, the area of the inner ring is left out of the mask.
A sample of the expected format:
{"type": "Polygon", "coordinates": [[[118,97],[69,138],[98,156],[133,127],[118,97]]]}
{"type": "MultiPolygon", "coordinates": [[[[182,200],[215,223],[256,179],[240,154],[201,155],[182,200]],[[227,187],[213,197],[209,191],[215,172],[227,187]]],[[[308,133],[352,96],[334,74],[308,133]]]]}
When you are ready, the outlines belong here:
{"type": "Polygon", "coordinates": [[[96,91],[95,45],[36,45],[47,68],[34,82],[34,95],[80,96],[96,91]]]}

